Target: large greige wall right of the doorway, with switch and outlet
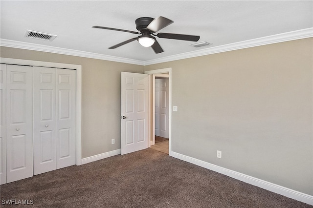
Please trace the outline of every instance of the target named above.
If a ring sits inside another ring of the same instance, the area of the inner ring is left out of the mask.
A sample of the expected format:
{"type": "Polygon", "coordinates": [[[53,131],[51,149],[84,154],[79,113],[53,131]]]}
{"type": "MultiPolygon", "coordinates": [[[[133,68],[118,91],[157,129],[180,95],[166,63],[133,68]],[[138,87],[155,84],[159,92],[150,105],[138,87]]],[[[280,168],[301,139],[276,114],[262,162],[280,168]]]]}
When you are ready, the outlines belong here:
{"type": "Polygon", "coordinates": [[[172,151],[313,195],[312,40],[146,66],[173,70],[172,151]]]}

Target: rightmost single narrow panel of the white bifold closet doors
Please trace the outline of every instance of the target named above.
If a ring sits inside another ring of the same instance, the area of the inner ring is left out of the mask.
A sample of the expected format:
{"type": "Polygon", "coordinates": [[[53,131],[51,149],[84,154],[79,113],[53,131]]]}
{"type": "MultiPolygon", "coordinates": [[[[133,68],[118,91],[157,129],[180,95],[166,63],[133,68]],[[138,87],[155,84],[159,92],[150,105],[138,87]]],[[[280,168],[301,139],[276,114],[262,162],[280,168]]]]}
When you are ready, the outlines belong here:
{"type": "Polygon", "coordinates": [[[76,163],[76,71],[56,69],[57,169],[76,163]]]}

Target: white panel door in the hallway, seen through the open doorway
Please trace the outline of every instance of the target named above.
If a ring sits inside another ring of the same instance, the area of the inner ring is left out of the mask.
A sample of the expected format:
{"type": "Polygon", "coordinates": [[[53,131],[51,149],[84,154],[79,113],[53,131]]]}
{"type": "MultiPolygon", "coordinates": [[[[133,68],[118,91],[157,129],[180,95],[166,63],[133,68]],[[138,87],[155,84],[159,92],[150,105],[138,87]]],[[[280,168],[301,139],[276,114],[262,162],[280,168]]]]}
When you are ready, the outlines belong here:
{"type": "Polygon", "coordinates": [[[169,99],[168,99],[168,78],[155,80],[155,135],[168,138],[169,121],[169,99]]]}

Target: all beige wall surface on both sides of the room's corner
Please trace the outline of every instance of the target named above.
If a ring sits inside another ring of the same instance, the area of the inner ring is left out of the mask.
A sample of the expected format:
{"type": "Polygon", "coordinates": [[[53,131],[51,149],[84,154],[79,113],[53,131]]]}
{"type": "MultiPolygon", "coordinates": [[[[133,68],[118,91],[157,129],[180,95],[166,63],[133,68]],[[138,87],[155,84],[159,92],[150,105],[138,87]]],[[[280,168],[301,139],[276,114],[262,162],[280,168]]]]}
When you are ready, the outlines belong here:
{"type": "Polygon", "coordinates": [[[1,57],[83,66],[83,158],[120,148],[120,72],[172,67],[173,151],[313,195],[312,45],[303,39],[149,66],[7,47],[1,57]]]}

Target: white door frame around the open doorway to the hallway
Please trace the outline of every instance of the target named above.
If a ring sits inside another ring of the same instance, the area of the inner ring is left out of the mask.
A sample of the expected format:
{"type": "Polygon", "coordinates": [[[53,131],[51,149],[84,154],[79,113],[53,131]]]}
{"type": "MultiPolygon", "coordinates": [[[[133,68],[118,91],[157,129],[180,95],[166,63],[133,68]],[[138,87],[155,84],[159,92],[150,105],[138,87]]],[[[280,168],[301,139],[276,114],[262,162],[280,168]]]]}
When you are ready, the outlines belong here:
{"type": "MultiPolygon", "coordinates": [[[[151,71],[145,71],[145,74],[148,74],[148,106],[149,106],[149,114],[148,114],[148,147],[154,144],[155,137],[155,78],[161,77],[164,73],[168,73],[169,78],[169,155],[172,155],[172,68],[163,68],[156,69],[151,71]],[[151,138],[153,139],[153,144],[151,144],[151,138]]],[[[167,77],[167,76],[166,76],[167,77]]]]}

